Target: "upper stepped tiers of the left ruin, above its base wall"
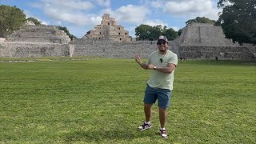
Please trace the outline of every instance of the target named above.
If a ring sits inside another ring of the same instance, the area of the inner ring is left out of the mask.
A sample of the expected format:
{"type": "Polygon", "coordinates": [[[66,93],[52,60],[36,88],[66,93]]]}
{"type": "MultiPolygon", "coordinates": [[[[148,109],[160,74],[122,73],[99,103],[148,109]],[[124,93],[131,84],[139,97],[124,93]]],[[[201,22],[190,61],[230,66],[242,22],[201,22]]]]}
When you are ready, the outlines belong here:
{"type": "Polygon", "coordinates": [[[70,38],[63,30],[55,26],[23,26],[21,30],[10,34],[6,42],[48,42],[67,44],[70,38]]]}

